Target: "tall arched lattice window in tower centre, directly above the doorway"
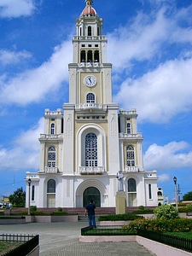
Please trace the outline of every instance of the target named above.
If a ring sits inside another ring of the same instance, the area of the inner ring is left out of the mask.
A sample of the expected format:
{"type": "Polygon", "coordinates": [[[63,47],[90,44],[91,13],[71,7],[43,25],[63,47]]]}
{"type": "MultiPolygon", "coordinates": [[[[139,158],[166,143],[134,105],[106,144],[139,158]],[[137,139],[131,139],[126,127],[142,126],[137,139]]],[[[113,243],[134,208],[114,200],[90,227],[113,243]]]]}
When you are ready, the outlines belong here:
{"type": "Polygon", "coordinates": [[[85,166],[97,166],[97,137],[91,132],[85,137],[85,166]]]}

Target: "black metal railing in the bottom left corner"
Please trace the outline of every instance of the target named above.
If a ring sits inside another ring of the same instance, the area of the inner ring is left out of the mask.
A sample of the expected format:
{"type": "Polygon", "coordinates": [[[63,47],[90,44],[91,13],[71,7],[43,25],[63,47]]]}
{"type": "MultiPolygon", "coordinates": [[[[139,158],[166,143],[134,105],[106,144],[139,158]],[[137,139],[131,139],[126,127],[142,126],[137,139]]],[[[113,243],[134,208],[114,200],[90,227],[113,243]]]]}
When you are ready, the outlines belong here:
{"type": "Polygon", "coordinates": [[[3,242],[20,242],[20,246],[4,253],[3,256],[26,256],[32,250],[38,247],[39,236],[19,235],[19,234],[0,234],[0,241],[3,242]]]}

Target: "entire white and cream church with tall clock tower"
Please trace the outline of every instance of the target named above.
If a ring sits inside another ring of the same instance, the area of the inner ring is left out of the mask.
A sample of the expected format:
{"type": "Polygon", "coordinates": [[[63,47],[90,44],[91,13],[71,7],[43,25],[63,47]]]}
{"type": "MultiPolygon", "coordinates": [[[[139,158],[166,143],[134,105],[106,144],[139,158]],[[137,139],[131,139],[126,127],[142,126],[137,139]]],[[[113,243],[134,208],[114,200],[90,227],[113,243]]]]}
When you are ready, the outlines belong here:
{"type": "Polygon", "coordinates": [[[69,102],[44,111],[39,170],[26,172],[26,207],[115,207],[118,177],[126,207],[156,207],[157,173],[143,169],[137,110],[112,99],[112,64],[102,18],[85,0],[76,20],[69,102]],[[28,183],[30,181],[30,183],[28,183]]]}

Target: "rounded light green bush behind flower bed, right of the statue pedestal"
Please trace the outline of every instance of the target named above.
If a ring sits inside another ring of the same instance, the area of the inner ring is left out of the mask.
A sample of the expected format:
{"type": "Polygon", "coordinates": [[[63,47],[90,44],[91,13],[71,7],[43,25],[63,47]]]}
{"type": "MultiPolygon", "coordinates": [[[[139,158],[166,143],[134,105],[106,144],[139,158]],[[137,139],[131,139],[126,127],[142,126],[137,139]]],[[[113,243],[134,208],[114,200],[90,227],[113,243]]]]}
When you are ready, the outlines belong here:
{"type": "Polygon", "coordinates": [[[154,215],[156,218],[177,218],[178,211],[172,205],[160,206],[154,209],[154,215]]]}

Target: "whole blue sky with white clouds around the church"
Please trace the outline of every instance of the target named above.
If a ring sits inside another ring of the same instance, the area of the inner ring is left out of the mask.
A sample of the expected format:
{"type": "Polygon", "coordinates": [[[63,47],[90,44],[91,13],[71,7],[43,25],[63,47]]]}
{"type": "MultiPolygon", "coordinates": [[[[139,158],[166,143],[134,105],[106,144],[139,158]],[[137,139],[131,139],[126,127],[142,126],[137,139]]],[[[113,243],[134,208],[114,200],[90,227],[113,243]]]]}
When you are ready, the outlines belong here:
{"type": "MultiPolygon", "coordinates": [[[[113,102],[137,108],[146,171],[174,200],[192,191],[191,0],[95,0],[113,63],[113,102]]],[[[0,197],[38,172],[44,109],[68,102],[84,0],[0,0],[0,197]]]]}

